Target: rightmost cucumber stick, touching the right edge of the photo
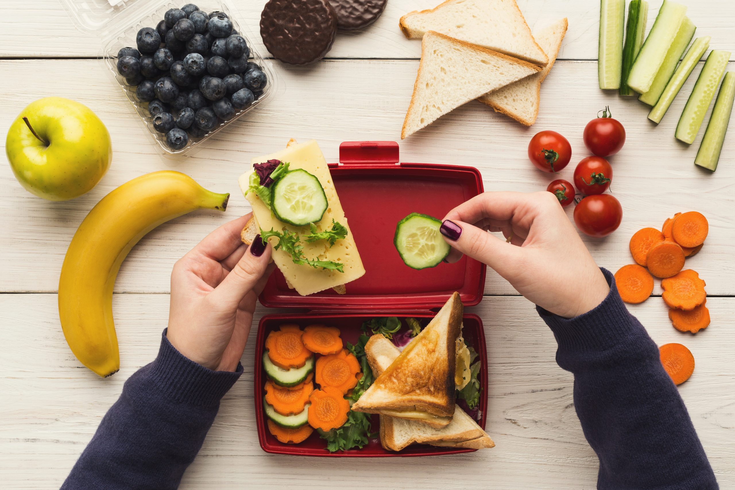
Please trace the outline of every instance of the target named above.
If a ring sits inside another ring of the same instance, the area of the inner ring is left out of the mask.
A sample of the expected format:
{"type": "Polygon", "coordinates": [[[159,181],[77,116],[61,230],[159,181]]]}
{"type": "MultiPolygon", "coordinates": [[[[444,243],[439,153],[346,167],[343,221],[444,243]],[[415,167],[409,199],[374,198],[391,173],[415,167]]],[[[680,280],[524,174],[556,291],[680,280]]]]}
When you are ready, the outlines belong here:
{"type": "Polygon", "coordinates": [[[707,130],[704,131],[702,145],[700,145],[697,158],[694,161],[695,165],[708,168],[713,172],[717,169],[717,160],[720,159],[720,151],[723,150],[723,142],[725,141],[725,133],[728,131],[734,100],[735,71],[728,71],[728,73],[725,73],[725,79],[720,86],[720,93],[714,103],[707,130]]]}

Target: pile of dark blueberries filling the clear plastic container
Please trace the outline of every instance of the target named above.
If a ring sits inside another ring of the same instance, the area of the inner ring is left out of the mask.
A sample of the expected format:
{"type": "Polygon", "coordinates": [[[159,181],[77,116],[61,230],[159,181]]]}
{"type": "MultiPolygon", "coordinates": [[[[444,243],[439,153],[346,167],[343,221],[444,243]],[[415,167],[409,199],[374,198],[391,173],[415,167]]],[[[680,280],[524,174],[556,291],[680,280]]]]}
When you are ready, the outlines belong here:
{"type": "Polygon", "coordinates": [[[148,102],[154,129],[175,151],[250,107],[268,82],[224,12],[207,15],[194,4],[168,10],[155,29],[138,31],[136,43],[118,52],[118,73],[148,102]]]}

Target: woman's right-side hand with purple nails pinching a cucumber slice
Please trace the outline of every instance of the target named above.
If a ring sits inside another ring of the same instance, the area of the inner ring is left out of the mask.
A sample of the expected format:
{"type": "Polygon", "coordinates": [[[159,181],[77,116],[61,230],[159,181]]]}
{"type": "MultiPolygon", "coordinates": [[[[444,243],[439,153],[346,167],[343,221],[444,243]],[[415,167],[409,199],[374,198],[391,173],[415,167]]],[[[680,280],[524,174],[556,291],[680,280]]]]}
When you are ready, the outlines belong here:
{"type": "Polygon", "coordinates": [[[520,294],[562,317],[595,308],[610,288],[551,192],[485,192],[452,209],[442,234],[453,250],[489,265],[520,294]],[[510,242],[487,231],[501,231],[510,242]]]}

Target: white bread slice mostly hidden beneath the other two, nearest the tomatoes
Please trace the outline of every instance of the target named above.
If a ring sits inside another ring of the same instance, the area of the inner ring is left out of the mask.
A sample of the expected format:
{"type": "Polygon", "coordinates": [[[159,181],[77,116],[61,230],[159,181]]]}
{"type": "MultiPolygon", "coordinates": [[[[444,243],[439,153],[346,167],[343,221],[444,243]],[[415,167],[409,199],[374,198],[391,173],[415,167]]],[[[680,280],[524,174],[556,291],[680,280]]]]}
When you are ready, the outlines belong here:
{"type": "Polygon", "coordinates": [[[489,105],[495,109],[495,112],[502,112],[517,120],[523,126],[531,126],[535,123],[539,115],[541,82],[544,81],[556,61],[556,55],[559,54],[562,40],[567,33],[567,26],[567,19],[563,18],[535,33],[536,40],[549,57],[549,62],[542,71],[486,93],[477,100],[489,105]]]}

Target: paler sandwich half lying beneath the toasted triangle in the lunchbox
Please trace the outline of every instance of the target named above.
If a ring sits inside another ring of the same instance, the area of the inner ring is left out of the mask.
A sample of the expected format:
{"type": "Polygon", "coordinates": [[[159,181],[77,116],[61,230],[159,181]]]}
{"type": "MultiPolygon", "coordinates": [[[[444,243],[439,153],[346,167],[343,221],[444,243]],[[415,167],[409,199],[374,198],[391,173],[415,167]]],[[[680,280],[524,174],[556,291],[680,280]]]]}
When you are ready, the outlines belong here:
{"type": "MultiPolygon", "coordinates": [[[[383,334],[371,336],[365,345],[365,355],[376,377],[387,370],[400,353],[383,334]]],[[[495,447],[490,436],[459,406],[455,408],[451,422],[443,428],[433,428],[417,420],[381,415],[380,443],[385,449],[392,451],[400,451],[410,444],[470,449],[495,447]]]]}

